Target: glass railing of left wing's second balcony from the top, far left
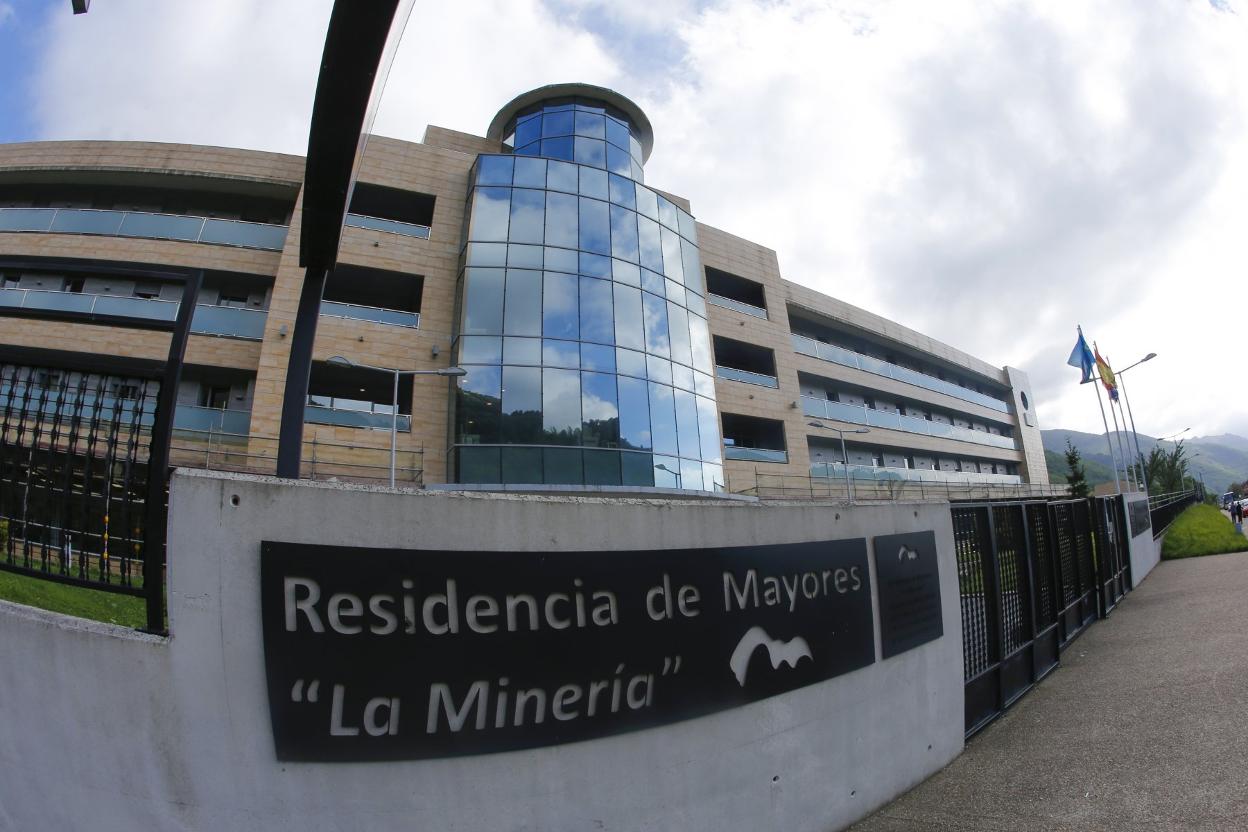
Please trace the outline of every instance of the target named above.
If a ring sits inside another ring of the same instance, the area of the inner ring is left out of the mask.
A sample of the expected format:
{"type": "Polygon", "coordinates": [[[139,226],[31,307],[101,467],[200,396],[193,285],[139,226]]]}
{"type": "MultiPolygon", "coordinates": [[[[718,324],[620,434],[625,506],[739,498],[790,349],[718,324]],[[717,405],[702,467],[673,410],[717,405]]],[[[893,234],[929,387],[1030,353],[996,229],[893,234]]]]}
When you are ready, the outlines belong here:
{"type": "MultiPolygon", "coordinates": [[[[9,309],[171,322],[177,318],[177,301],[156,298],[82,294],[81,292],[49,289],[0,289],[0,308],[9,309]]],[[[263,309],[241,309],[201,303],[195,307],[191,332],[201,336],[261,341],[265,337],[266,317],[267,313],[263,309]]]]}

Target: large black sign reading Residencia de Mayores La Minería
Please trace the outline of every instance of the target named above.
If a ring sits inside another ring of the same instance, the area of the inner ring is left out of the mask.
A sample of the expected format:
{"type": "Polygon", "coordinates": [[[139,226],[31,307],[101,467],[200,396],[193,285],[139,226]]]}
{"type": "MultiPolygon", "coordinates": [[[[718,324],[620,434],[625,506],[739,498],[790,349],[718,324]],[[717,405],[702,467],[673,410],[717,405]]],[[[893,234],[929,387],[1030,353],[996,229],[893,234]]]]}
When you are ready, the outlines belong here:
{"type": "Polygon", "coordinates": [[[875,661],[866,541],[644,551],[261,546],[280,760],[587,740],[875,661]]]}

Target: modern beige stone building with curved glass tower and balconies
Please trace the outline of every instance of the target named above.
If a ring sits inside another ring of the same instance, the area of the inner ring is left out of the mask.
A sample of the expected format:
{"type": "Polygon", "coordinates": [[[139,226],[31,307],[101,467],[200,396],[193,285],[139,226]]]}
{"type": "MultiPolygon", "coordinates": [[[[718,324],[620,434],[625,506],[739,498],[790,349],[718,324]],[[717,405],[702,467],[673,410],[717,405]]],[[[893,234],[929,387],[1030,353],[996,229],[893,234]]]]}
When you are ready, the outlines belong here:
{"type": "MultiPolygon", "coordinates": [[[[845,462],[857,480],[1047,484],[1025,373],[781,278],[774,251],[645,183],[653,146],[635,104],[580,84],[520,95],[484,136],[372,137],[305,473],[382,478],[394,429],[406,484],[761,493],[845,462]],[[467,374],[398,377],[397,413],[374,369],[448,365],[467,374]]],[[[302,173],[221,147],[0,146],[4,389],[50,380],[20,368],[163,360],[168,334],[132,327],[171,319],[176,273],[201,269],[173,459],[272,470],[302,173]]]]}

